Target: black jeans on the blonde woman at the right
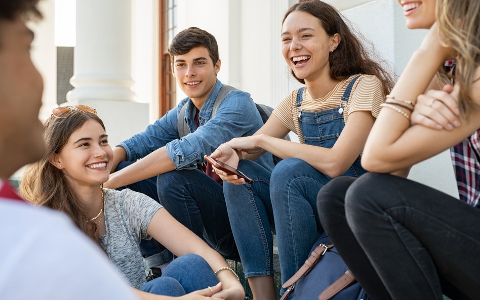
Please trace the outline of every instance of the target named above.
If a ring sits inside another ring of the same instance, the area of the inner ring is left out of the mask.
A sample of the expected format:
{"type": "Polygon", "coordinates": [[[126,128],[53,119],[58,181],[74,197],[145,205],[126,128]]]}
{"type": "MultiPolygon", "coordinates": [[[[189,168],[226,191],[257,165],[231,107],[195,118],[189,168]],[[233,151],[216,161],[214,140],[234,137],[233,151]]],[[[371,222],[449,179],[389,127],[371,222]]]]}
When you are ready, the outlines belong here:
{"type": "Polygon", "coordinates": [[[385,174],[339,177],[320,220],[374,300],[480,299],[480,209],[385,174]]]}

